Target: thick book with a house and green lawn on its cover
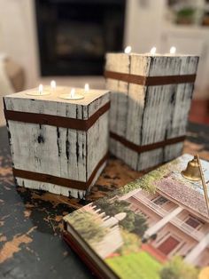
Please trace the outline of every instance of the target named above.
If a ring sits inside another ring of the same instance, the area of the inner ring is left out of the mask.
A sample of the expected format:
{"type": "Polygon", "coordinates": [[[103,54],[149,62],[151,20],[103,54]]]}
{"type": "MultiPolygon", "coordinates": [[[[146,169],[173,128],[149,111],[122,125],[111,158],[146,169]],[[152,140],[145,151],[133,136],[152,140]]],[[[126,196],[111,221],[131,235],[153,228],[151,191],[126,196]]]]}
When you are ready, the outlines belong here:
{"type": "MultiPolygon", "coordinates": [[[[101,278],[209,278],[209,217],[182,155],[64,218],[64,239],[101,278]]],[[[209,163],[202,161],[209,186],[209,163]]]]}

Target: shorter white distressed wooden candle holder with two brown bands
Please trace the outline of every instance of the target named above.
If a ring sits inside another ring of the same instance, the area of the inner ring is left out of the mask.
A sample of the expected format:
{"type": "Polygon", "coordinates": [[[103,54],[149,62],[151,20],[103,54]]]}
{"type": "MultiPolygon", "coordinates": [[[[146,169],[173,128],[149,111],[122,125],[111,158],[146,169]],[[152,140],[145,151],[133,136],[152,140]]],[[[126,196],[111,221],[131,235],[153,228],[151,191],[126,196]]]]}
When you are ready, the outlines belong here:
{"type": "Polygon", "coordinates": [[[81,100],[61,99],[69,88],[30,92],[4,97],[17,184],[83,197],[107,159],[109,92],[90,90],[81,100]]]}

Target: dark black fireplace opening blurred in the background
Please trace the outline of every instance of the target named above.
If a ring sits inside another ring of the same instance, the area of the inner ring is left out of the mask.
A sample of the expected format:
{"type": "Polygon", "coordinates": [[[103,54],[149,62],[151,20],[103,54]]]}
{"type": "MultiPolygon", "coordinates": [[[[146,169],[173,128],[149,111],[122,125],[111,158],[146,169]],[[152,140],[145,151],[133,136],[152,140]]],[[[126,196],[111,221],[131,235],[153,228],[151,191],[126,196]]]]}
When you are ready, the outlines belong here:
{"type": "Polygon", "coordinates": [[[120,52],[126,0],[35,0],[42,76],[99,76],[120,52]]]}

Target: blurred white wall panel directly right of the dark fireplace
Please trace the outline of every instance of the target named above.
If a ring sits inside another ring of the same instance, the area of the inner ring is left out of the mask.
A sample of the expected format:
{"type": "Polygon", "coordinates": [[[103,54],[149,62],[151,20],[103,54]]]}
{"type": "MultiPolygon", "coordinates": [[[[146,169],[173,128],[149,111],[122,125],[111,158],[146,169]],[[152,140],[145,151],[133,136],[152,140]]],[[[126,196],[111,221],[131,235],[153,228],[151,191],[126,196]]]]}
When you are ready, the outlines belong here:
{"type": "Polygon", "coordinates": [[[166,0],[128,0],[125,44],[133,52],[150,52],[152,46],[160,51],[160,35],[166,0]]]}

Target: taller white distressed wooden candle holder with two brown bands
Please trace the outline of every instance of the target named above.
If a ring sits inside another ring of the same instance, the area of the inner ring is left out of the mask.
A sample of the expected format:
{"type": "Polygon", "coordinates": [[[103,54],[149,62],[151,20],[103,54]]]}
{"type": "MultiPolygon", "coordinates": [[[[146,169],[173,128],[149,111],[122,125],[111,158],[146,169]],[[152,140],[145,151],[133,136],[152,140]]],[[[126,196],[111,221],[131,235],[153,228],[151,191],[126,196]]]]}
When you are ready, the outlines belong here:
{"type": "Polygon", "coordinates": [[[111,152],[141,171],[182,153],[197,56],[107,53],[111,152]]]}

